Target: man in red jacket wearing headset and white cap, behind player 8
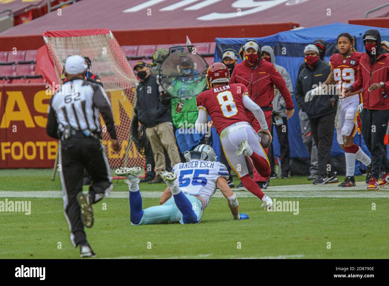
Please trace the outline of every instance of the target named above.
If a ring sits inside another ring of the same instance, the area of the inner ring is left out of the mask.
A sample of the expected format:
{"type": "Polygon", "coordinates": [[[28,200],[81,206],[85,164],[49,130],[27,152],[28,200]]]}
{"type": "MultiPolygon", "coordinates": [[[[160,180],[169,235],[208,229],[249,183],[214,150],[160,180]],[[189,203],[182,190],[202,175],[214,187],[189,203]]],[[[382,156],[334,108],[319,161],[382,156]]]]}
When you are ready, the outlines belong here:
{"type": "MultiPolygon", "coordinates": [[[[286,83],[279,72],[274,68],[272,63],[259,57],[261,54],[260,44],[256,40],[249,39],[244,45],[245,60],[238,63],[231,75],[230,84],[242,83],[249,90],[250,98],[258,104],[265,113],[266,123],[269,129],[272,123],[272,110],[274,99],[274,86],[280,91],[286,103],[287,119],[291,118],[294,112],[293,100],[286,83]]],[[[251,112],[247,112],[251,121],[251,126],[256,132],[261,129],[257,120],[251,112]]],[[[266,154],[268,149],[265,149],[266,154]]],[[[260,188],[266,188],[268,178],[261,177],[255,171],[253,179],[259,184],[260,188]]]]}

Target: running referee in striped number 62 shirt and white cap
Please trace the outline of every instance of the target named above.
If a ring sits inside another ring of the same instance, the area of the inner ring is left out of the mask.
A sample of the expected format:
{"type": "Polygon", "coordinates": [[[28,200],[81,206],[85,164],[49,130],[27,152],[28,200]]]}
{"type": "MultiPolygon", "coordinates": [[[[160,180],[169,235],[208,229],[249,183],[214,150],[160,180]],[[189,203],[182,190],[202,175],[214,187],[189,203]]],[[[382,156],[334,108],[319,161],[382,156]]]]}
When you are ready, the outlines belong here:
{"type": "Polygon", "coordinates": [[[81,257],[95,257],[86,240],[84,226],[93,225],[95,204],[112,189],[110,167],[100,142],[99,111],[115,151],[121,146],[116,139],[110,102],[102,87],[84,80],[86,69],[82,56],[69,56],[65,61],[67,82],[53,95],[49,104],[46,132],[60,139],[58,148],[63,207],[70,228],[70,240],[80,246],[81,257]],[[89,193],[82,193],[84,168],[92,177],[89,193]]]}

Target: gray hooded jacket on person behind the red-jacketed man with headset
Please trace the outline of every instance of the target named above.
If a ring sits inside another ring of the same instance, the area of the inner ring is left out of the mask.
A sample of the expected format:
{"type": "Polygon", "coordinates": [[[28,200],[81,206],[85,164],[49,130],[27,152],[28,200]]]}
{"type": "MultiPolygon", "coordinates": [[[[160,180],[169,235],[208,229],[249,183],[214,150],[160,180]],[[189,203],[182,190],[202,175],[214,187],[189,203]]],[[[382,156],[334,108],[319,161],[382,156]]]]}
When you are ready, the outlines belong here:
{"type": "MultiPolygon", "coordinates": [[[[280,73],[280,75],[286,82],[286,87],[289,89],[289,92],[291,93],[291,97],[293,97],[293,85],[292,85],[291,76],[289,75],[289,72],[287,72],[284,67],[277,65],[275,63],[273,48],[270,46],[263,46],[261,51],[265,51],[266,53],[270,54],[270,59],[272,60],[273,66],[280,73]]],[[[273,99],[273,115],[286,117],[284,116],[284,113],[286,111],[285,100],[284,98],[282,98],[280,91],[278,89],[275,89],[275,91],[276,90],[277,93],[274,95],[274,99],[273,99]]]]}

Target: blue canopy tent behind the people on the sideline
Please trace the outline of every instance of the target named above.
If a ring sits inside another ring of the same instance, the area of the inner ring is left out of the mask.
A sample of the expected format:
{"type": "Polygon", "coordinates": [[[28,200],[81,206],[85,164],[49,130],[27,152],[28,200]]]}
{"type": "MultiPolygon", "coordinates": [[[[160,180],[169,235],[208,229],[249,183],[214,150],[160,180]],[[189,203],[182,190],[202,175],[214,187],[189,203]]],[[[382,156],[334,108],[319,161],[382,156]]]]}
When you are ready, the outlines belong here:
{"type": "MultiPolygon", "coordinates": [[[[336,39],[340,33],[350,33],[356,39],[357,51],[365,52],[363,44],[363,34],[368,29],[377,29],[381,33],[382,40],[389,40],[389,29],[377,28],[370,26],[351,25],[343,23],[333,23],[329,25],[316,26],[298,30],[290,30],[280,32],[275,35],[252,38],[261,43],[262,46],[272,46],[274,48],[275,62],[286,68],[292,78],[293,86],[296,86],[298,76],[298,68],[304,61],[303,50],[308,44],[312,44],[316,39],[323,39],[327,43],[326,54],[324,60],[328,61],[329,57],[337,53],[336,39]]],[[[232,48],[239,51],[242,44],[249,38],[216,38],[215,62],[220,61],[220,55],[224,49],[232,48]]],[[[293,98],[295,112],[291,119],[288,120],[289,126],[289,146],[291,157],[309,158],[307,148],[301,138],[300,122],[298,119],[298,110],[296,99],[293,98]]],[[[335,128],[334,128],[335,130],[335,128]]],[[[274,155],[280,156],[280,145],[277,139],[277,134],[273,130],[274,139],[274,155]]],[[[336,131],[331,149],[331,156],[340,156],[344,151],[340,148],[336,141],[336,131]]],[[[218,140],[218,139],[216,139],[218,140]]],[[[362,136],[357,133],[354,142],[360,145],[361,148],[370,156],[366,145],[363,142],[362,136]]],[[[216,142],[214,140],[214,145],[216,142]]],[[[356,165],[356,175],[359,172],[359,163],[356,165]]],[[[363,166],[364,167],[364,166],[363,166]]],[[[364,167],[365,168],[365,167],[364,167]]]]}

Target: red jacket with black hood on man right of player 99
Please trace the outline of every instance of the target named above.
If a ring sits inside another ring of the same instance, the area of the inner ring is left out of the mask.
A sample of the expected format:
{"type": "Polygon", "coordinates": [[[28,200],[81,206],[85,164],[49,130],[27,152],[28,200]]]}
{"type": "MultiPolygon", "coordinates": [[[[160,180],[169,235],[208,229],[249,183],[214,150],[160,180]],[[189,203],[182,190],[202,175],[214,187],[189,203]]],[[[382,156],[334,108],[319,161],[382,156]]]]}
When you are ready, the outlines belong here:
{"type": "Polygon", "coordinates": [[[352,87],[353,91],[362,88],[362,100],[364,109],[385,110],[389,109],[389,53],[381,47],[381,35],[378,30],[367,30],[366,35],[373,35],[377,39],[376,53],[366,51],[359,60],[358,76],[352,87]],[[385,82],[384,88],[368,91],[373,83],[385,82]]]}

